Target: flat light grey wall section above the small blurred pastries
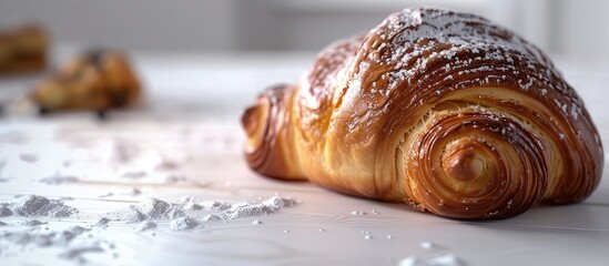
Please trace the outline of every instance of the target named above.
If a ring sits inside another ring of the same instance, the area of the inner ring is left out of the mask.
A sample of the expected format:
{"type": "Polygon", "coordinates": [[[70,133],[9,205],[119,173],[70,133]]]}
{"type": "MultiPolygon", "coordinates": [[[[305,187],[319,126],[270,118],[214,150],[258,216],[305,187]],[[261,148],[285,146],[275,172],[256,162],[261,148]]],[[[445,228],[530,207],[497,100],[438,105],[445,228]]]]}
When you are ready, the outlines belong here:
{"type": "Polygon", "coordinates": [[[234,0],[0,0],[0,24],[35,20],[59,42],[123,49],[230,50],[234,0]]]}

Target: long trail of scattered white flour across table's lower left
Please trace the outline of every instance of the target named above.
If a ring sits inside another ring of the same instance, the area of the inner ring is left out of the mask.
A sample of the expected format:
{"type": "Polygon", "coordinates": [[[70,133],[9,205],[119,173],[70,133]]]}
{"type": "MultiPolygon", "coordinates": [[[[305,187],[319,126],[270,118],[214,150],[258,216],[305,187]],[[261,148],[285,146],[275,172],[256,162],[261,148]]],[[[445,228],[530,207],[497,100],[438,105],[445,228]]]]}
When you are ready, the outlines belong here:
{"type": "MultiPolygon", "coordinates": [[[[10,202],[0,203],[0,216],[24,217],[8,225],[0,222],[0,226],[9,226],[9,231],[0,233],[0,252],[7,248],[24,247],[59,247],[58,256],[62,259],[85,263],[83,255],[89,253],[104,253],[103,232],[109,224],[114,222],[136,223],[138,232],[153,231],[159,227],[159,221],[169,222],[171,231],[189,231],[209,227],[207,223],[229,222],[232,219],[247,218],[254,216],[273,215],[274,213],[297,204],[288,197],[273,196],[260,202],[226,203],[221,201],[200,201],[187,197],[180,204],[172,204],[159,198],[145,198],[128,207],[111,211],[105,217],[88,228],[71,226],[65,229],[49,229],[48,218],[70,217],[79,209],[65,205],[59,200],[49,200],[43,196],[28,195],[14,198],[10,202]],[[35,217],[32,219],[31,217],[35,217]],[[41,219],[38,219],[41,218],[41,219]],[[47,218],[42,219],[42,218],[47,218]],[[27,227],[20,227],[27,226],[27,227]],[[101,229],[101,231],[100,231],[101,229]],[[91,232],[90,237],[80,237],[85,232],[91,232]],[[100,235],[101,233],[101,235],[100,235]],[[74,239],[78,241],[74,242],[74,239]],[[89,241],[83,245],[83,241],[89,241]]],[[[263,224],[256,219],[254,224],[263,224]]],[[[51,226],[52,227],[52,226],[51,226]]]]}

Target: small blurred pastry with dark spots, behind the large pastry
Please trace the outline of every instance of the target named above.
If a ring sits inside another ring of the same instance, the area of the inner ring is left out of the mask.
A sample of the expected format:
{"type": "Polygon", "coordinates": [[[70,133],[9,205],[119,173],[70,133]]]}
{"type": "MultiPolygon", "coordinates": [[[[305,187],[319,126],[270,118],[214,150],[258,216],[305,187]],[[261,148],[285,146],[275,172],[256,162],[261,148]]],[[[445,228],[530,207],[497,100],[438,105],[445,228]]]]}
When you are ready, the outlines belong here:
{"type": "Polygon", "coordinates": [[[42,112],[110,109],[134,105],[140,83],[124,54],[94,51],[70,61],[40,82],[31,98],[42,112]]]}

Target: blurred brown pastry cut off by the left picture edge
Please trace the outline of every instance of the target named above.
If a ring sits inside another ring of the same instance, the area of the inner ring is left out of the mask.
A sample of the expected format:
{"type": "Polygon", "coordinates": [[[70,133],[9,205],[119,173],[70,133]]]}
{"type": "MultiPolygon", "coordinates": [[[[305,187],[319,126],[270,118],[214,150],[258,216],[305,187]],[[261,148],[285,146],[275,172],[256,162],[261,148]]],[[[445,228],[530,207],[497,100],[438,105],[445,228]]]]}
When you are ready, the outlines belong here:
{"type": "Polygon", "coordinates": [[[41,71],[49,40],[41,25],[0,29],[0,74],[41,71]]]}

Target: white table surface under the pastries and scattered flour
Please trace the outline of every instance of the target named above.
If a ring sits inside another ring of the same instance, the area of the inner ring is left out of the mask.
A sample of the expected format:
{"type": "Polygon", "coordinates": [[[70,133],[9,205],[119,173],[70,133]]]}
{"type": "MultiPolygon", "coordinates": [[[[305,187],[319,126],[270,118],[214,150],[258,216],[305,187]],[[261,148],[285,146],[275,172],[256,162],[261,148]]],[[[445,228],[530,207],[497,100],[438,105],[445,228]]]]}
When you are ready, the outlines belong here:
{"type": "MultiPolygon", "coordinates": [[[[272,216],[210,223],[209,228],[185,232],[172,232],[168,221],[159,222],[153,232],[113,222],[90,233],[90,238],[115,246],[85,254],[90,265],[398,265],[408,256],[428,258],[440,253],[456,255],[464,265],[609,264],[608,171],[583,203],[539,206],[514,218],[480,222],[447,219],[404,204],[346,196],[251,172],[241,152],[241,110],[266,85],[298,79],[311,57],[136,53],[134,64],[148,91],[146,104],[138,110],[112,112],[103,122],[91,113],[0,119],[0,162],[4,162],[0,201],[27,194],[72,197],[65,204],[78,207],[79,217],[40,218],[51,229],[92,225],[106,212],[146,197],[172,203],[183,196],[242,202],[280,194],[301,202],[272,216]],[[116,146],[133,151],[134,160],[113,162],[116,146]],[[35,154],[38,161],[23,162],[20,154],[35,154]],[[174,158],[177,167],[155,171],[150,161],[160,156],[174,158]],[[149,175],[122,178],[125,171],[149,175]],[[39,182],[58,172],[75,175],[79,182],[39,182]],[[168,182],[170,174],[185,181],[168,182]],[[133,188],[142,194],[131,195],[133,188]],[[103,196],[109,193],[113,195],[103,196]],[[354,211],[367,215],[353,215],[354,211]],[[254,219],[264,224],[253,225],[254,219]],[[363,232],[372,238],[366,239],[363,232]],[[437,248],[425,250],[419,246],[423,242],[437,248]]],[[[605,92],[609,72],[567,63],[561,68],[585,99],[601,137],[609,140],[605,92]]],[[[0,100],[22,94],[37,78],[0,80],[0,100]]],[[[59,258],[59,252],[61,247],[4,243],[0,265],[75,264],[59,258]]]]}

